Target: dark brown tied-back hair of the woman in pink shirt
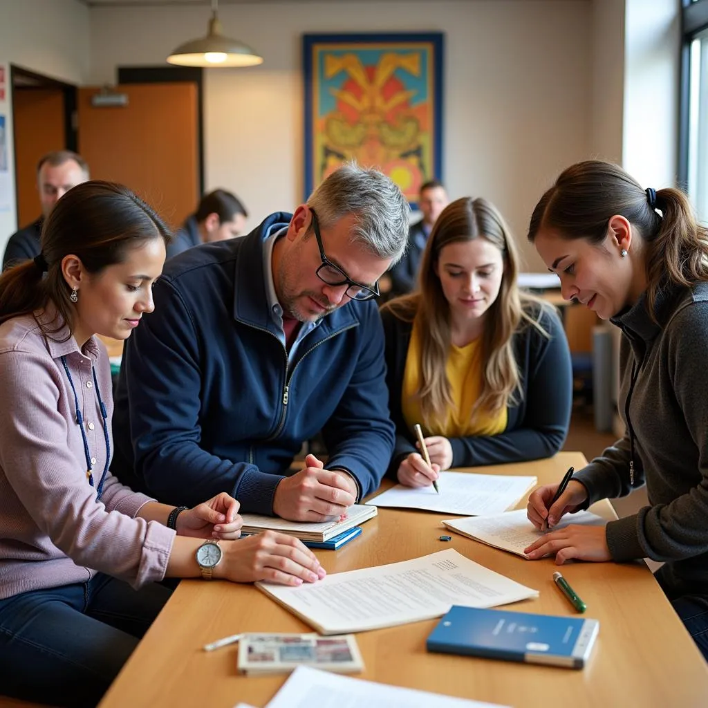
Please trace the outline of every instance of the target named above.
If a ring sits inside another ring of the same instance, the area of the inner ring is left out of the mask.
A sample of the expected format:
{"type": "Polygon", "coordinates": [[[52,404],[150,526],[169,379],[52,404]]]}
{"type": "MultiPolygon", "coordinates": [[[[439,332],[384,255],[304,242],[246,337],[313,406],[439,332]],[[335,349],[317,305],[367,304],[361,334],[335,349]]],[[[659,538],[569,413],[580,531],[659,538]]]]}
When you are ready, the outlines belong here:
{"type": "MultiPolygon", "coordinates": [[[[127,187],[102,181],[76,185],[59,199],[42,227],[46,274],[35,261],[25,261],[0,276],[0,323],[52,302],[73,332],[75,310],[62,274],[64,256],[73,254],[96,275],[108,265],[122,263],[130,249],[159,238],[168,243],[169,229],[127,187]]],[[[45,329],[45,335],[60,327],[45,329]]]]}

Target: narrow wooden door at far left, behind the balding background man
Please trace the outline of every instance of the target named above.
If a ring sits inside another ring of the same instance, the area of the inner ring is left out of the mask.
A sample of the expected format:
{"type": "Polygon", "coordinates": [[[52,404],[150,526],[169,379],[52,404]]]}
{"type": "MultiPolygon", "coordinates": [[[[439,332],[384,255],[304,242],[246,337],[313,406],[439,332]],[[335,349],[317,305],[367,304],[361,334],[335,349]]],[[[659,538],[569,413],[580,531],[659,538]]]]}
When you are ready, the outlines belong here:
{"type": "Polygon", "coordinates": [[[15,125],[17,223],[25,227],[42,214],[37,163],[42,155],[66,146],[64,90],[16,87],[12,99],[15,125]]]}

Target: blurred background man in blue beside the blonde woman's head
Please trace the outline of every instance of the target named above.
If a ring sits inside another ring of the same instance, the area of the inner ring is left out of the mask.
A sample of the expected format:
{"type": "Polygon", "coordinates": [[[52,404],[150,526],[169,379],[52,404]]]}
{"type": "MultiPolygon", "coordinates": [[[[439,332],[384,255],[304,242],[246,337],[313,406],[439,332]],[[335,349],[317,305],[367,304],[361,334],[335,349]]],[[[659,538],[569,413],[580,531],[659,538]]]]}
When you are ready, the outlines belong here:
{"type": "Polygon", "coordinates": [[[440,212],[445,209],[448,202],[447,192],[445,192],[442,182],[430,180],[421,187],[418,208],[421,210],[423,218],[411,225],[406,254],[387,273],[387,278],[390,280],[390,289],[387,292],[389,299],[398,295],[406,295],[416,289],[418,268],[421,265],[428,236],[430,236],[440,212]]]}

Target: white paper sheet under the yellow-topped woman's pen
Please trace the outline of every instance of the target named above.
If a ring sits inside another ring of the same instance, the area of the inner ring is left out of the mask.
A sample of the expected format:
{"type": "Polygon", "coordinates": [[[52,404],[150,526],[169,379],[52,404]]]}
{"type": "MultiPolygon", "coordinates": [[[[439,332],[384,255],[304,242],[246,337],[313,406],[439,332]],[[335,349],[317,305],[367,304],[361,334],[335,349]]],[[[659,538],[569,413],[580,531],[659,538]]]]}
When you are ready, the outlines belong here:
{"type": "Polygon", "coordinates": [[[439,494],[432,486],[414,488],[396,484],[369,503],[465,516],[498,514],[515,507],[537,481],[532,476],[442,472],[439,494]]]}

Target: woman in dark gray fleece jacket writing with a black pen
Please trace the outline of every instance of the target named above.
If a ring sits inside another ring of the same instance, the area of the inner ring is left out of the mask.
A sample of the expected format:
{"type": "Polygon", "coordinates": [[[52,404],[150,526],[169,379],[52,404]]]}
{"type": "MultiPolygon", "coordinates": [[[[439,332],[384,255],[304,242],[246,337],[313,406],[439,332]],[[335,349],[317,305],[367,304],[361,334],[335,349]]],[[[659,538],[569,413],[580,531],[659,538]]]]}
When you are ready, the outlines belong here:
{"type": "Polygon", "coordinates": [[[708,231],[679,190],[643,189],[616,165],[586,161],[559,176],[529,239],[577,299],[622,329],[619,411],[627,432],[573,475],[537,489],[528,516],[558,523],[646,484],[649,505],[601,527],[569,525],[532,544],[556,563],[663,561],[668,599],[708,658],[708,231]]]}

